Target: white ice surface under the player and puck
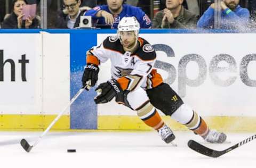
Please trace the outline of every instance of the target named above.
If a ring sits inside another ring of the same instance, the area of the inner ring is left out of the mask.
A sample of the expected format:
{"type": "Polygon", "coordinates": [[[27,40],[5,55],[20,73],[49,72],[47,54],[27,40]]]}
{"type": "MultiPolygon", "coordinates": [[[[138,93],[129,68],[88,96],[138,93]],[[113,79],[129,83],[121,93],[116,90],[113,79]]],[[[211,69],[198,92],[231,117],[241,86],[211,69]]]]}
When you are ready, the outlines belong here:
{"type": "Polygon", "coordinates": [[[187,147],[189,139],[223,150],[253,135],[227,133],[230,144],[207,144],[189,131],[174,131],[178,147],[167,145],[155,131],[49,132],[30,153],[22,138],[34,144],[42,132],[0,132],[1,167],[254,167],[256,140],[219,158],[198,154],[187,147]],[[67,153],[76,149],[76,153],[67,153]]]}

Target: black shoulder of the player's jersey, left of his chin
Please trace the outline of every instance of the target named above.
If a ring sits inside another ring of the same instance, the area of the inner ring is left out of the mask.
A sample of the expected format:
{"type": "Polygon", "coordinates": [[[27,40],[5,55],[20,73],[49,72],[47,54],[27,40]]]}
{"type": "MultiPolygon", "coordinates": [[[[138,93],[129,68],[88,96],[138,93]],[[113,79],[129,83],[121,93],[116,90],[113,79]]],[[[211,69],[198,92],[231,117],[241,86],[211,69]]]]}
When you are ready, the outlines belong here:
{"type": "Polygon", "coordinates": [[[103,47],[112,51],[121,52],[123,51],[120,40],[117,36],[109,36],[103,41],[103,47]]]}

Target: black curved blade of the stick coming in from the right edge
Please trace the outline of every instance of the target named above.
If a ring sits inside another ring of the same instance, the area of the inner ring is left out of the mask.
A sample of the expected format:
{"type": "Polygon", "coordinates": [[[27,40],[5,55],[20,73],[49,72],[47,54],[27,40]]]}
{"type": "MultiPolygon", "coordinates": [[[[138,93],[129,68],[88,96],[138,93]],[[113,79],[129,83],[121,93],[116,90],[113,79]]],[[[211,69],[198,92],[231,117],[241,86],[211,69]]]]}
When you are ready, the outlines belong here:
{"type": "Polygon", "coordinates": [[[207,148],[207,147],[199,144],[198,142],[196,142],[194,140],[189,140],[188,141],[188,147],[190,149],[195,150],[198,153],[201,153],[201,154],[209,156],[209,157],[219,157],[219,156],[222,155],[221,151],[207,148]]]}

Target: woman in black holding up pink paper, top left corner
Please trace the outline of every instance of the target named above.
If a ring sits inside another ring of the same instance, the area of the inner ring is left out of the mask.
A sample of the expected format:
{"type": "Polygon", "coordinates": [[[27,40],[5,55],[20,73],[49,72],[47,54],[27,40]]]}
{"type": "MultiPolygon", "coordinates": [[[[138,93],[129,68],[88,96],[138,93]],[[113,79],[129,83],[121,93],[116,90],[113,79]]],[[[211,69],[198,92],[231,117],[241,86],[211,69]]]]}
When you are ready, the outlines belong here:
{"type": "Polygon", "coordinates": [[[39,16],[35,16],[35,18],[31,18],[30,16],[26,20],[22,20],[24,16],[22,9],[23,6],[28,4],[26,0],[13,0],[12,1],[12,9],[11,14],[6,15],[3,21],[2,28],[8,29],[33,29],[40,27],[40,19],[39,16]]]}

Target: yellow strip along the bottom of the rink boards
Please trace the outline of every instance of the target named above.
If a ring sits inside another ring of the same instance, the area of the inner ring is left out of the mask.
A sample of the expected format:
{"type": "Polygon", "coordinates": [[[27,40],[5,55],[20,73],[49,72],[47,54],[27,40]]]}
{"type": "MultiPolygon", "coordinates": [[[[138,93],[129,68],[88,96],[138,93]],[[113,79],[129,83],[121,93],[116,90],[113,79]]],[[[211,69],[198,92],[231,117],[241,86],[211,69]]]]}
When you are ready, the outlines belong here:
{"type": "MultiPolygon", "coordinates": [[[[0,115],[0,131],[44,131],[57,115],[0,115]]],[[[162,116],[172,130],[188,130],[169,116],[162,116]]],[[[206,116],[203,117],[210,128],[225,132],[255,132],[254,116],[206,116]]],[[[86,121],[85,121],[86,122],[86,121]]],[[[70,129],[70,116],[63,115],[51,131],[91,132],[91,131],[148,131],[152,130],[138,116],[100,115],[98,130],[70,129]]]]}

